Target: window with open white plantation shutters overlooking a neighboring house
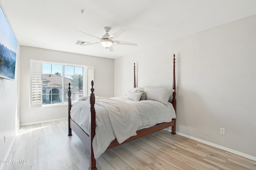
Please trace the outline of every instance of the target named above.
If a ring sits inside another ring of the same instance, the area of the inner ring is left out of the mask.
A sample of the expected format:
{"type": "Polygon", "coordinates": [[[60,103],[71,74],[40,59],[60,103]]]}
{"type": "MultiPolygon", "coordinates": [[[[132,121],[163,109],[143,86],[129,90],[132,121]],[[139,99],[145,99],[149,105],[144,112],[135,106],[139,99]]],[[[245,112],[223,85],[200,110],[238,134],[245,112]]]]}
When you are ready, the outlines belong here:
{"type": "Polygon", "coordinates": [[[30,107],[67,103],[69,83],[72,93],[71,100],[75,102],[82,96],[90,94],[90,83],[88,82],[94,78],[93,66],[31,60],[30,71],[30,107]],[[86,91],[84,92],[83,89],[86,91]]]}

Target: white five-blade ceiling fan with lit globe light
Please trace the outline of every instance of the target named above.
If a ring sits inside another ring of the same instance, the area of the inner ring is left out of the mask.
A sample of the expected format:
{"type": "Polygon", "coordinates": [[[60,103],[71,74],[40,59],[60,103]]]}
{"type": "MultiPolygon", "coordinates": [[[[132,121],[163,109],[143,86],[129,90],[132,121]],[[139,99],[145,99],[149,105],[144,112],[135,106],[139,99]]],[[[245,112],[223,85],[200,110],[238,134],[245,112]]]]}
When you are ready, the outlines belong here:
{"type": "MultiPolygon", "coordinates": [[[[137,45],[135,43],[128,43],[128,42],[116,40],[116,38],[119,35],[121,35],[122,33],[125,32],[124,29],[120,29],[116,33],[113,33],[112,35],[109,35],[108,32],[110,31],[110,29],[111,29],[110,27],[104,27],[104,30],[106,31],[106,34],[104,34],[101,38],[96,37],[96,36],[91,35],[91,34],[88,34],[88,33],[84,33],[82,31],[76,31],[76,32],[88,35],[90,37],[94,37],[96,39],[99,39],[100,41],[97,42],[97,43],[101,43],[103,47],[106,47],[106,49],[109,49],[111,52],[114,51],[114,48],[112,46],[113,44],[116,44],[116,45],[135,45],[135,46],[137,45]]],[[[97,44],[97,43],[90,43],[90,42],[79,41],[79,40],[76,42],[76,44],[79,44],[79,45],[92,45],[92,44],[97,44]]]]}

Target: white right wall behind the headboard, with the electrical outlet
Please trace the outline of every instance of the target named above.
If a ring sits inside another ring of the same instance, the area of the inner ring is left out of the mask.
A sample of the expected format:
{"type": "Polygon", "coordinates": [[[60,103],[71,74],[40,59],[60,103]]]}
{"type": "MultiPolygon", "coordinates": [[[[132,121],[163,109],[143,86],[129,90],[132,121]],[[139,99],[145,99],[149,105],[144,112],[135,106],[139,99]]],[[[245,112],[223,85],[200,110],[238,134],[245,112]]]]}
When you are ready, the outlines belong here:
{"type": "Polygon", "coordinates": [[[172,86],[176,54],[177,131],[256,156],[256,15],[115,59],[114,96],[138,86],[172,86]],[[226,134],[220,134],[220,127],[226,134]]]}

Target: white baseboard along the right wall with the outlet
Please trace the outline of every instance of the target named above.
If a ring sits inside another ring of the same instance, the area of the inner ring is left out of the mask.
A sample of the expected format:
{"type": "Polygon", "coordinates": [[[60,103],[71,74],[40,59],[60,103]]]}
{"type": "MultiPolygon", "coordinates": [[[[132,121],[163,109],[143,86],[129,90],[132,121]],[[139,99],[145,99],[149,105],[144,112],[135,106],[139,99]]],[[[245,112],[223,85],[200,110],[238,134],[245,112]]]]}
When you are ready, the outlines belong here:
{"type": "MultiPolygon", "coordinates": [[[[165,129],[165,130],[172,132],[170,129],[165,129]]],[[[239,156],[243,156],[243,157],[248,158],[248,159],[250,159],[250,160],[256,161],[256,157],[255,157],[255,156],[252,156],[252,155],[249,155],[249,154],[245,154],[245,153],[239,152],[239,151],[237,151],[237,150],[233,150],[233,149],[229,149],[229,148],[226,148],[226,147],[222,147],[222,146],[220,146],[220,145],[217,145],[217,144],[214,144],[214,143],[210,143],[210,142],[208,142],[208,141],[204,141],[204,140],[202,140],[202,139],[198,139],[198,138],[192,137],[192,136],[190,136],[190,135],[186,135],[186,134],[183,134],[183,133],[179,133],[179,132],[177,132],[177,131],[176,131],[176,133],[177,133],[178,135],[180,135],[180,136],[184,136],[184,137],[187,137],[187,138],[189,138],[189,139],[193,139],[193,140],[195,140],[195,141],[204,143],[204,144],[206,144],[206,145],[210,145],[210,146],[216,147],[216,148],[218,148],[218,149],[226,150],[226,151],[228,151],[228,152],[230,152],[230,153],[237,154],[237,155],[239,155],[239,156]]]]}

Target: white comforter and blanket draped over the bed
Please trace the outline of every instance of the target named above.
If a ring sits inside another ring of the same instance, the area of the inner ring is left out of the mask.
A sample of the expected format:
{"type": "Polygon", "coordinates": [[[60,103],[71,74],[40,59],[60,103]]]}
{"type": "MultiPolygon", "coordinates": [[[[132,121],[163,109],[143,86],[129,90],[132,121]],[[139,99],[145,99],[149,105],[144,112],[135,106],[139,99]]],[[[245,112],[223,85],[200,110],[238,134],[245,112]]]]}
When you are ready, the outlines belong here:
{"type": "MultiPolygon", "coordinates": [[[[90,97],[85,96],[72,105],[70,117],[90,135],[90,97]]],[[[116,138],[122,143],[136,135],[137,129],[176,118],[171,103],[164,105],[154,100],[135,102],[125,98],[95,100],[96,135],[93,139],[94,157],[97,159],[116,138]]]]}

